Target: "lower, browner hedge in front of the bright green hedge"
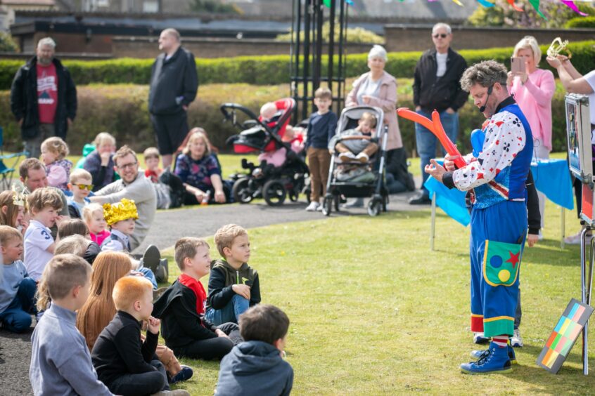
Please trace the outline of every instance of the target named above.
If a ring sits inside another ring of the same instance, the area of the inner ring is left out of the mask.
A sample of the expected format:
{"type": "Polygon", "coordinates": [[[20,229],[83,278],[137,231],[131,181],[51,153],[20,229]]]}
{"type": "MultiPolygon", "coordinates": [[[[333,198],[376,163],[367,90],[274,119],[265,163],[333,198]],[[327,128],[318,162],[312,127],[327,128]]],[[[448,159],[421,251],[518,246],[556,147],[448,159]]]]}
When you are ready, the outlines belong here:
{"type": "MultiPolygon", "coordinates": [[[[411,98],[411,79],[399,79],[399,107],[413,107],[411,98]]],[[[221,103],[233,101],[241,103],[258,112],[262,103],[276,100],[288,95],[289,85],[251,86],[248,84],[211,84],[203,86],[198,99],[188,110],[188,124],[203,126],[209,133],[212,143],[224,151],[225,140],[237,133],[229,123],[223,124],[223,116],[219,111],[221,103]]],[[[9,91],[0,91],[0,125],[4,126],[4,142],[6,150],[17,150],[20,146],[20,129],[10,112],[9,91]]],[[[142,152],[146,147],[155,145],[153,129],[147,111],[148,86],[91,85],[78,89],[79,112],[75,123],[68,131],[67,143],[72,153],[82,150],[84,143],[94,139],[101,131],[109,131],[117,138],[119,145],[127,143],[134,150],[142,152]]],[[[552,103],[552,119],[554,122],[554,151],[564,151],[565,114],[564,91],[558,83],[552,103]]],[[[468,103],[459,110],[461,151],[471,151],[470,134],[484,121],[469,98],[468,103]]],[[[415,148],[414,123],[399,119],[403,142],[408,152],[415,148]]]]}

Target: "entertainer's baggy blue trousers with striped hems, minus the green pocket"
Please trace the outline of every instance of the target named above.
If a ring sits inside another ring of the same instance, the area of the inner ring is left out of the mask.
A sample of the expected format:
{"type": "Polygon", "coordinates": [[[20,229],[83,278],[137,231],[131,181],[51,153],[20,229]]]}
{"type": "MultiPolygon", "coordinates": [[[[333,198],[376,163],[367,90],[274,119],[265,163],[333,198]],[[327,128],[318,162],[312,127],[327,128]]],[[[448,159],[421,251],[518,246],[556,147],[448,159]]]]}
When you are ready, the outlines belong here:
{"type": "Polygon", "coordinates": [[[508,244],[520,241],[522,256],[526,233],[526,202],[504,201],[471,210],[471,331],[482,331],[486,337],[513,335],[519,277],[513,278],[511,284],[489,282],[485,275],[488,256],[485,249],[487,241],[508,244]]]}

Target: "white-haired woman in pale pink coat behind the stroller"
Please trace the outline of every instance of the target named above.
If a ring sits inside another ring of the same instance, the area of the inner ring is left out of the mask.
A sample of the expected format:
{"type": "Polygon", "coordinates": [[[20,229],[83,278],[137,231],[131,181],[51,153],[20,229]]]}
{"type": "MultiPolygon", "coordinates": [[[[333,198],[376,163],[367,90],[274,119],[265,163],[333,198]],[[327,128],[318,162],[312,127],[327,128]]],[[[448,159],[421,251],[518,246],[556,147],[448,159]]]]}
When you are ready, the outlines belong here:
{"type": "MultiPolygon", "coordinates": [[[[362,74],[353,83],[353,88],[345,99],[345,107],[376,106],[384,112],[384,124],[388,124],[387,169],[390,169],[392,150],[403,150],[403,141],[397,121],[397,80],[385,72],[387,55],[382,46],[373,46],[368,53],[369,72],[362,74]]],[[[397,156],[394,156],[397,157],[397,156]]],[[[388,173],[387,173],[388,174],[388,173]]],[[[390,177],[388,177],[389,179],[390,177]]],[[[387,180],[389,183],[389,180],[387,180]]],[[[346,204],[347,207],[364,206],[364,200],[354,199],[346,204]]]]}

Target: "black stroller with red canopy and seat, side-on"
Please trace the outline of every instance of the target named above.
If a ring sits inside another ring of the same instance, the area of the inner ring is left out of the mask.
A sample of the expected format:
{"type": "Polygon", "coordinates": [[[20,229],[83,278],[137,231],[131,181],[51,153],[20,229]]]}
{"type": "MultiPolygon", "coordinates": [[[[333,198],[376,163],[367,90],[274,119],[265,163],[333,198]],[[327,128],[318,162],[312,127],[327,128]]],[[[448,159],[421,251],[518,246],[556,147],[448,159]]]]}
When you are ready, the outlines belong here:
{"type": "Polygon", "coordinates": [[[241,129],[241,133],[227,139],[228,145],[233,145],[233,152],[274,152],[285,149],[285,160],[281,166],[271,164],[252,164],[242,159],[242,168],[247,173],[236,173],[230,176],[233,180],[231,193],[233,199],[241,204],[248,204],[255,198],[264,198],[270,206],[279,206],[285,202],[287,196],[292,202],[298,200],[304,189],[308,167],[303,155],[294,152],[290,143],[283,142],[283,132],[289,124],[291,113],[295,108],[295,100],[286,98],[277,100],[279,111],[269,123],[263,122],[248,108],[236,103],[221,105],[225,120],[233,122],[241,129]],[[238,122],[236,110],[248,116],[248,120],[238,122]]]}

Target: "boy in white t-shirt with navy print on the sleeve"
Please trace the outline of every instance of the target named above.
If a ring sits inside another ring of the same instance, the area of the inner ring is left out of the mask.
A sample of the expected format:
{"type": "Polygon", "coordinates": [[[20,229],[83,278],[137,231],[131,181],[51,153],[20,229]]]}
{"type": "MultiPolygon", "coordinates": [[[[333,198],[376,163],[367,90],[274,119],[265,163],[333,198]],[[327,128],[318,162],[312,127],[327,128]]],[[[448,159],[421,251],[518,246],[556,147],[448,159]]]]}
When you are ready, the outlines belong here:
{"type": "Polygon", "coordinates": [[[27,198],[31,220],[25,231],[25,268],[39,282],[56,246],[49,227],[62,219],[62,197],[55,188],[38,188],[27,198]]]}

